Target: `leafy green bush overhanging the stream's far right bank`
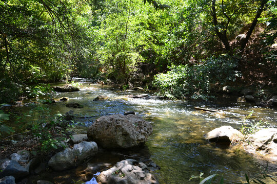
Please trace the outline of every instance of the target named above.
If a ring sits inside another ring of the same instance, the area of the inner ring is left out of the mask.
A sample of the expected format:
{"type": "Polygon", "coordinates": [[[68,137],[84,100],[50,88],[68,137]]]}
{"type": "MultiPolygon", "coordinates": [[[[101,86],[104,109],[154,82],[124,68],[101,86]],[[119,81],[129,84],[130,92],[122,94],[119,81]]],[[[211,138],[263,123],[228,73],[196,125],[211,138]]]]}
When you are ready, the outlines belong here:
{"type": "Polygon", "coordinates": [[[211,83],[224,85],[226,82],[235,81],[240,75],[235,71],[237,66],[238,61],[228,55],[212,57],[193,66],[172,65],[166,74],[157,74],[154,77],[153,85],[168,98],[190,97],[206,100],[212,97],[211,83]]]}

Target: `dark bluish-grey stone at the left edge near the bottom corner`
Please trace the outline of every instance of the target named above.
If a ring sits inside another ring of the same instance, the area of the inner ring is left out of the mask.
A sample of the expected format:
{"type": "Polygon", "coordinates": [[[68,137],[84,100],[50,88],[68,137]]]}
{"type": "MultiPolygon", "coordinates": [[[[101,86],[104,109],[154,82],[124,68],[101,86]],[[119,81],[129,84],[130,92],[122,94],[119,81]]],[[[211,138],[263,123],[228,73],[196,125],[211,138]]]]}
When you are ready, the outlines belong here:
{"type": "Polygon", "coordinates": [[[29,174],[28,170],[21,165],[19,165],[15,160],[7,160],[5,161],[0,170],[0,178],[5,176],[13,176],[15,179],[25,177],[29,174]]]}

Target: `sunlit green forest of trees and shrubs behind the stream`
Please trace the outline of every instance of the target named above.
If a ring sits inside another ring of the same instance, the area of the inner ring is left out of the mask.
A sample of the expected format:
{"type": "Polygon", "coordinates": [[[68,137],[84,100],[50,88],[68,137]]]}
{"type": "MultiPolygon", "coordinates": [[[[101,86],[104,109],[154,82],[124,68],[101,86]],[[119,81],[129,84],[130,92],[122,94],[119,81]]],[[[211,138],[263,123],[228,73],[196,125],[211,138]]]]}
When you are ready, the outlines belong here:
{"type": "Polygon", "coordinates": [[[276,93],[276,28],[275,0],[2,0],[0,102],[73,76],[179,99],[276,93]]]}

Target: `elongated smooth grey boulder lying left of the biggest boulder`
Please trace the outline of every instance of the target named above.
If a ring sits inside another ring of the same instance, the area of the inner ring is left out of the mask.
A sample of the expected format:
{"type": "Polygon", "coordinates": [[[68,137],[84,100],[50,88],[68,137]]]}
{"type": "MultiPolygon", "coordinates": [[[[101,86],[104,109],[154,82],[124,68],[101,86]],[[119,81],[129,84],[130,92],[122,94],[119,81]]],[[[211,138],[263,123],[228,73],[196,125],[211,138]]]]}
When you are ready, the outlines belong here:
{"type": "Polygon", "coordinates": [[[66,148],[64,151],[56,153],[48,162],[48,165],[56,171],[63,171],[81,164],[85,159],[97,153],[95,142],[82,142],[74,145],[73,149],[66,148]]]}

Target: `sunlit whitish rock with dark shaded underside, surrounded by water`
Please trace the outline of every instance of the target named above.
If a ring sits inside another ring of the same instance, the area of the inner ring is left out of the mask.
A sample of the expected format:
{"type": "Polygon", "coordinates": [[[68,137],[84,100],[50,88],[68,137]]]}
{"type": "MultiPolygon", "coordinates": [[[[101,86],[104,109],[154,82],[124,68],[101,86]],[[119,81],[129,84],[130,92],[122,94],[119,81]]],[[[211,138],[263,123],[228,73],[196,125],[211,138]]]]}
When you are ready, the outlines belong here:
{"type": "Polygon", "coordinates": [[[215,128],[212,131],[206,133],[204,137],[210,142],[228,145],[244,140],[244,135],[239,130],[234,129],[231,126],[215,128]]]}

